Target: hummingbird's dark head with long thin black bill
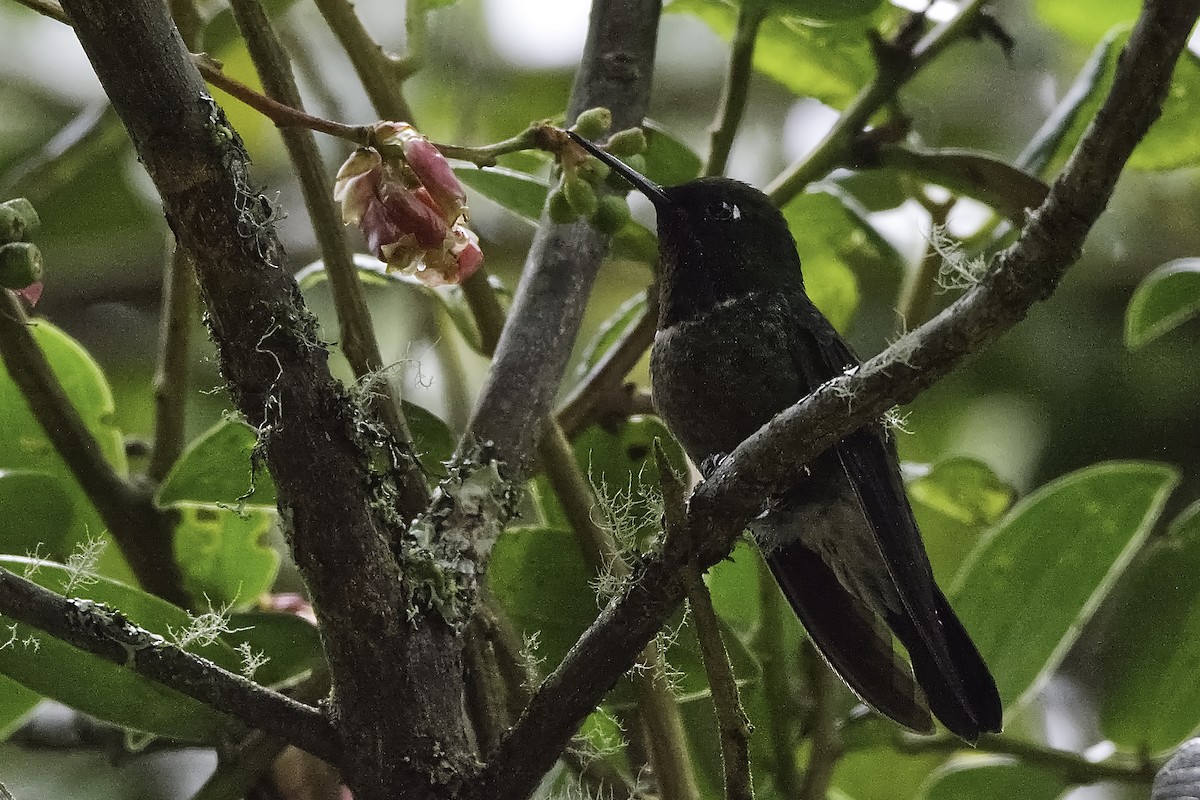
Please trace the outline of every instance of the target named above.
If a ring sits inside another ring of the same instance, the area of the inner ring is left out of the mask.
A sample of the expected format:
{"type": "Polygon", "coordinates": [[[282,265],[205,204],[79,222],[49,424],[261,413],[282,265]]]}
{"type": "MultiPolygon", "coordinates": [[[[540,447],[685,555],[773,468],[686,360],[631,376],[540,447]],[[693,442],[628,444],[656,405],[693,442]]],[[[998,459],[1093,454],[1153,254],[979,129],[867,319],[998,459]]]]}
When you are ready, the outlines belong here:
{"type": "Polygon", "coordinates": [[[758,190],[728,178],[659,186],[569,133],[654,205],[664,321],[686,318],[751,291],[804,289],[787,221],[758,190]]]}

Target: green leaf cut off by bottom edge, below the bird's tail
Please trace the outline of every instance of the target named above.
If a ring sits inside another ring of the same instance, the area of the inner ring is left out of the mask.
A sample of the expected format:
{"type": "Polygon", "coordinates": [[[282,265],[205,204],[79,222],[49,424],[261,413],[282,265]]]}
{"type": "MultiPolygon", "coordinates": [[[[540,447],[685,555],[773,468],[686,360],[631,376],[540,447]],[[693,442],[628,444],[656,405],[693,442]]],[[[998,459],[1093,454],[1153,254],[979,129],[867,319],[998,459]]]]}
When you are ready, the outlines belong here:
{"type": "Polygon", "coordinates": [[[1002,756],[953,758],[929,776],[920,800],[1054,800],[1070,783],[1054,770],[1002,756]]]}

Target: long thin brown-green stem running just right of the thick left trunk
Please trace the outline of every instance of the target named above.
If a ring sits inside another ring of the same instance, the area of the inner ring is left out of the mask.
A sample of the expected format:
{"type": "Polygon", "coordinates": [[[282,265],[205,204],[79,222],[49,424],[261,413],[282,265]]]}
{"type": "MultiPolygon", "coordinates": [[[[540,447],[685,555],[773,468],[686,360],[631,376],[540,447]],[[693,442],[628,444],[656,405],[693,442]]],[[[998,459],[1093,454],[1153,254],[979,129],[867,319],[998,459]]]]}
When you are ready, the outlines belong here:
{"type": "MultiPolygon", "coordinates": [[[[233,0],[233,12],[266,94],[292,108],[302,108],[300,91],[287,54],[258,0],[233,0]]],[[[341,330],[341,347],[355,378],[371,381],[368,408],[379,416],[397,443],[412,452],[413,437],[401,407],[397,379],[390,374],[379,354],[366,293],[343,235],[343,225],[332,199],[332,187],[320,160],[312,133],[302,128],[281,128],[283,144],[300,181],[313,235],[320,248],[325,272],[334,295],[334,308],[341,330]]],[[[413,457],[398,461],[402,470],[401,507],[415,515],[428,504],[428,485],[420,464],[413,457]]]]}

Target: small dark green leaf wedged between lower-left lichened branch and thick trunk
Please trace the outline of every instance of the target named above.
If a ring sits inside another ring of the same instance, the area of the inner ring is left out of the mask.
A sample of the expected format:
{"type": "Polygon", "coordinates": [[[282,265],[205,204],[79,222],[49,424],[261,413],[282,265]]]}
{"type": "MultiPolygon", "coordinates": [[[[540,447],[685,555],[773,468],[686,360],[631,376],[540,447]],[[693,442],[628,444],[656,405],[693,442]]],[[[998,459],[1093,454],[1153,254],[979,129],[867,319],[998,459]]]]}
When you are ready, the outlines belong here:
{"type": "Polygon", "coordinates": [[[248,644],[252,652],[268,657],[253,675],[264,686],[292,684],[325,661],[317,627],[295,614],[230,614],[229,632],[221,638],[233,648],[248,644]]]}

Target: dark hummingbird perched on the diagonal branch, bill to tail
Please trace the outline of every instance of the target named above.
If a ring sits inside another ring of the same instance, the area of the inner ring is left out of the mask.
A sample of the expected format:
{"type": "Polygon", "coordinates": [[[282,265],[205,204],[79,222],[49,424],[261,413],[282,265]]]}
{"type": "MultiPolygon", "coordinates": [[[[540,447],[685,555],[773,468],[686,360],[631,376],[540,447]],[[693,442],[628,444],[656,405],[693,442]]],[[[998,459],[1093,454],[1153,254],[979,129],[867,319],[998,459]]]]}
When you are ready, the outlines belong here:
{"type": "MultiPolygon", "coordinates": [[[[796,241],[766,194],[727,178],[659,186],[569,133],[654,205],[654,404],[702,474],[859,363],[809,300],[796,241]]],[[[996,682],[934,581],[882,425],[798,468],[748,528],[816,650],[866,705],[919,733],[936,717],[971,742],[1001,729],[996,682]]]]}

